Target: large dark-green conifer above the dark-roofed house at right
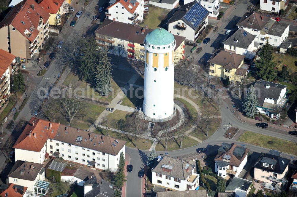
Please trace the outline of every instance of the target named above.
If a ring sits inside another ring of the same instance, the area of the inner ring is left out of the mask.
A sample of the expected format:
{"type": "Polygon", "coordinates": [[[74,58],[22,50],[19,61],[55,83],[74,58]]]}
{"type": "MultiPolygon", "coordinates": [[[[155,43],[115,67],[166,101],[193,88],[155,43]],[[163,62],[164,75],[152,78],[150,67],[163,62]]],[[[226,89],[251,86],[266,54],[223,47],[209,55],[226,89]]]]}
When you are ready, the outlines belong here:
{"type": "Polygon", "coordinates": [[[266,41],[259,52],[260,60],[256,63],[256,74],[259,79],[265,81],[272,81],[277,76],[274,69],[275,63],[273,62],[271,45],[266,41]]]}

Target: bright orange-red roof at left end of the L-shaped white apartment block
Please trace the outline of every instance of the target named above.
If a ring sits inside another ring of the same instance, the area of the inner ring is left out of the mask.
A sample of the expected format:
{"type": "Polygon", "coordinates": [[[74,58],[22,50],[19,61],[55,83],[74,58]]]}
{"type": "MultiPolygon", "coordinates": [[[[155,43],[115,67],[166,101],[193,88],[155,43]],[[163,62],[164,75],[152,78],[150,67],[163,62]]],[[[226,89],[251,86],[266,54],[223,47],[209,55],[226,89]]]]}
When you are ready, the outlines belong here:
{"type": "Polygon", "coordinates": [[[51,129],[49,126],[49,121],[32,117],[13,148],[40,152],[48,138],[53,139],[59,128],[58,123],[52,123],[51,129]],[[32,125],[33,121],[34,126],[32,125]],[[47,127],[46,129],[45,126],[47,127]],[[34,137],[34,134],[36,137],[34,137]]]}

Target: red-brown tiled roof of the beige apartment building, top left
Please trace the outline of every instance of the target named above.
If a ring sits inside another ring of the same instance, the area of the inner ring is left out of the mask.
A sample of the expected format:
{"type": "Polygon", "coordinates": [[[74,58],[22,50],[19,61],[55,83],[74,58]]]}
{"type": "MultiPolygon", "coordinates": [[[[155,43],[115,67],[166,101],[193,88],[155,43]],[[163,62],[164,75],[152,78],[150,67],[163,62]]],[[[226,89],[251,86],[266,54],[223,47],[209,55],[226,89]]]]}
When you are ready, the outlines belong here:
{"type": "Polygon", "coordinates": [[[50,15],[34,0],[25,0],[15,5],[15,7],[8,12],[6,17],[0,22],[0,28],[11,24],[29,41],[33,42],[39,33],[37,27],[40,17],[46,22],[50,15]],[[32,7],[34,7],[34,9],[32,7]],[[29,37],[25,34],[26,30],[31,33],[29,37]]]}

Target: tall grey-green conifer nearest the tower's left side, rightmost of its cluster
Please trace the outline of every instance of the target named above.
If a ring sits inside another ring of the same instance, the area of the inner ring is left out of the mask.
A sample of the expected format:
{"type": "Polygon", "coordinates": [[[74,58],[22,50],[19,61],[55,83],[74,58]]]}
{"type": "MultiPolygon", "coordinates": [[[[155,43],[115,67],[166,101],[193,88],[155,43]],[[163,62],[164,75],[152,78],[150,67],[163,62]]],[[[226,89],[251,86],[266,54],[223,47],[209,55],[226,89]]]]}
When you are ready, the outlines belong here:
{"type": "Polygon", "coordinates": [[[108,95],[111,92],[111,71],[110,57],[107,56],[107,50],[103,49],[95,77],[96,91],[101,95],[108,95]]]}

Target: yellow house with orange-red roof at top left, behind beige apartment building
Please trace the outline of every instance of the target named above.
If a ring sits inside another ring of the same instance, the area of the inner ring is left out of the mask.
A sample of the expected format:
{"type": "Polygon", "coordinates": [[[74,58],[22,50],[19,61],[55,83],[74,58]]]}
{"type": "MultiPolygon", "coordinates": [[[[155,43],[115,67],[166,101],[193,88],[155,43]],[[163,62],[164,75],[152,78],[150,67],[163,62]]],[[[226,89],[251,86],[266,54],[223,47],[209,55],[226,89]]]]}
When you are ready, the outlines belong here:
{"type": "Polygon", "coordinates": [[[42,0],[40,7],[50,14],[50,25],[60,25],[61,17],[68,12],[69,4],[65,0],[42,0]]]}

